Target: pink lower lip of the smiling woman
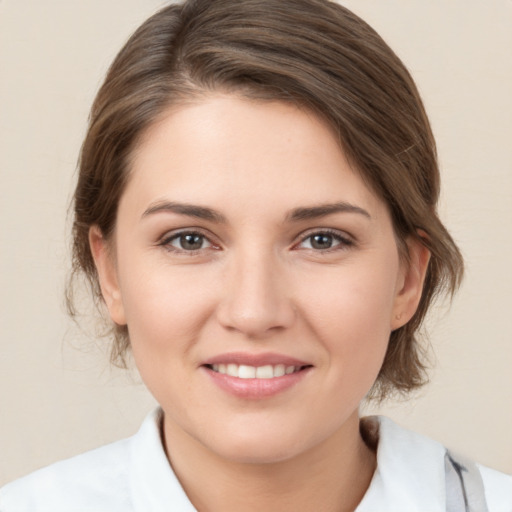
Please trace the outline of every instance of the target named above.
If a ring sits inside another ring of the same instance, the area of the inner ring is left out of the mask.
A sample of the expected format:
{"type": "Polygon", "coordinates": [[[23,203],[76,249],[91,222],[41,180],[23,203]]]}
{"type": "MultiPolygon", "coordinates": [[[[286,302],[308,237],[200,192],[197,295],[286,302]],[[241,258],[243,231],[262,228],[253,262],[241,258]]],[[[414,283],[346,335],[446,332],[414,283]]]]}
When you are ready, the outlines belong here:
{"type": "Polygon", "coordinates": [[[298,384],[312,369],[307,367],[298,372],[282,377],[274,377],[273,379],[240,379],[239,377],[231,377],[224,373],[215,372],[205,366],[202,368],[222,390],[238,398],[251,400],[269,398],[290,389],[298,384]]]}

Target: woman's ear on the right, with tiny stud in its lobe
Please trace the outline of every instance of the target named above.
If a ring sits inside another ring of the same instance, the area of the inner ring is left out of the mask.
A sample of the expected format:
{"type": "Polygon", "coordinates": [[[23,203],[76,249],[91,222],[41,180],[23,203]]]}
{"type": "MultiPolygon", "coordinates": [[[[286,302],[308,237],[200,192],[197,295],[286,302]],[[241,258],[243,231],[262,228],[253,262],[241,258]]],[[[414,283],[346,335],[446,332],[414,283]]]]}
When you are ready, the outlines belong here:
{"type": "MultiPolygon", "coordinates": [[[[426,236],[419,233],[420,236],[426,236]]],[[[418,238],[407,240],[408,261],[401,263],[397,294],[391,318],[391,330],[405,325],[414,315],[423,293],[430,251],[418,238]]]]}

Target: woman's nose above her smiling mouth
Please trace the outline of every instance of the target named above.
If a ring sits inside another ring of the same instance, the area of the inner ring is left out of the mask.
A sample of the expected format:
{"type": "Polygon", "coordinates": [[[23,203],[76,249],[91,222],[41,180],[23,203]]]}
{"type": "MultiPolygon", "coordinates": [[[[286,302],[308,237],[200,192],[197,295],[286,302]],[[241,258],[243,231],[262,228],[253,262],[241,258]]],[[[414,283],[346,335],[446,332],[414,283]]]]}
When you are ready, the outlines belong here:
{"type": "Polygon", "coordinates": [[[234,257],[217,309],[219,323],[248,338],[265,338],[290,327],[296,309],[288,296],[282,266],[271,255],[234,257]]]}

